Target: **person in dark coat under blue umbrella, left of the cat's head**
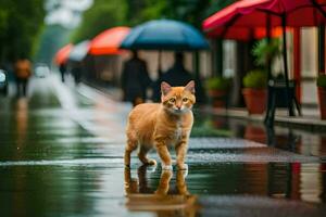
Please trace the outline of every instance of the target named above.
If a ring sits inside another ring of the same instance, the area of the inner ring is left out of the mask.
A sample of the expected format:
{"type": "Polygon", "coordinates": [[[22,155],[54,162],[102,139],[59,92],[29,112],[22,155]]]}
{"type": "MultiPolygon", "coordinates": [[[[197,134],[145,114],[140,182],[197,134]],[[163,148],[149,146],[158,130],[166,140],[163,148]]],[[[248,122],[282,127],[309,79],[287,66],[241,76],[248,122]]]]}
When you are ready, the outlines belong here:
{"type": "Polygon", "coordinates": [[[134,106],[146,101],[151,79],[147,64],[139,59],[137,51],[133,51],[133,58],[124,63],[121,84],[124,101],[131,102],[134,106]]]}

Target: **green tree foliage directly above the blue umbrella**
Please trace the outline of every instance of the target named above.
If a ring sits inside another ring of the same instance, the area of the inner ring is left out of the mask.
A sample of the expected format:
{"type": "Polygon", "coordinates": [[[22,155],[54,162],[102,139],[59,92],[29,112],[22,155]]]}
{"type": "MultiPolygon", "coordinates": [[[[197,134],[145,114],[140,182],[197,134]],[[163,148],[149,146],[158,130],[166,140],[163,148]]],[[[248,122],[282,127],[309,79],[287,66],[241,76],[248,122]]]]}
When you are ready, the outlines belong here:
{"type": "Polygon", "coordinates": [[[95,0],[84,13],[72,41],[91,39],[114,26],[135,26],[158,18],[184,21],[200,29],[204,18],[233,2],[235,0],[95,0]]]}

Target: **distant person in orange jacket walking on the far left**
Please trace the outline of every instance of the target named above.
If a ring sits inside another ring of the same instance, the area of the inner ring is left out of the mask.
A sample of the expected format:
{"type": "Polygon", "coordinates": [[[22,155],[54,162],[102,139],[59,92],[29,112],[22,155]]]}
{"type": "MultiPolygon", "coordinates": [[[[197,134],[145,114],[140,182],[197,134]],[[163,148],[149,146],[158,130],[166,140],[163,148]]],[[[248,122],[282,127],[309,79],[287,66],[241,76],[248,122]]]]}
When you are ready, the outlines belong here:
{"type": "Polygon", "coordinates": [[[30,62],[26,58],[20,58],[14,64],[17,95],[26,95],[28,79],[32,75],[30,62]]]}

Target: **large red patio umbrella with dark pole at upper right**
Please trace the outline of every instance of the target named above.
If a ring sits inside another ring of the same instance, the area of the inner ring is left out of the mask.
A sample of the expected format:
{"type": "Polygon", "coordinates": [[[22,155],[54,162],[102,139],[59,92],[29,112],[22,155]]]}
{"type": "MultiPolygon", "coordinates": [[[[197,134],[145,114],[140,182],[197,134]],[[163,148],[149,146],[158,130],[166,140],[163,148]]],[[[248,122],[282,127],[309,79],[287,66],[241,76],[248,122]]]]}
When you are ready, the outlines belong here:
{"type": "MultiPolygon", "coordinates": [[[[256,27],[271,29],[283,27],[283,47],[287,48],[286,26],[325,25],[326,0],[243,0],[227,7],[203,22],[203,29],[210,35],[227,36],[236,29],[251,30],[256,27]]],[[[271,36],[271,34],[267,34],[271,36]]],[[[284,69],[287,90],[289,88],[287,49],[284,49],[284,69]]],[[[288,94],[289,115],[293,115],[288,94]]]]}

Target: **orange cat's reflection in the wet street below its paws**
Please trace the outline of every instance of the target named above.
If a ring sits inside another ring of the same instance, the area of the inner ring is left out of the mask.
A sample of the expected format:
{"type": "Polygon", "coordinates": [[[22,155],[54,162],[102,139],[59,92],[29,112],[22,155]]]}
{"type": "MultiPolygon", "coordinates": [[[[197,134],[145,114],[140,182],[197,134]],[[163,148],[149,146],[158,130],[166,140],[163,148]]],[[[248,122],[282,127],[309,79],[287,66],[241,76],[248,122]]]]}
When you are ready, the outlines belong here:
{"type": "Polygon", "coordinates": [[[154,212],[158,216],[196,216],[197,197],[187,190],[184,170],[176,171],[176,190],[170,187],[172,170],[162,170],[158,188],[149,188],[147,166],[137,170],[138,179],[131,178],[129,168],[125,169],[126,206],[131,212],[154,212]]]}

